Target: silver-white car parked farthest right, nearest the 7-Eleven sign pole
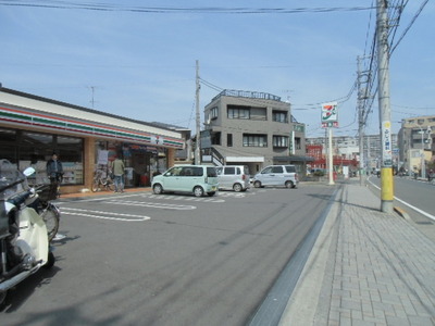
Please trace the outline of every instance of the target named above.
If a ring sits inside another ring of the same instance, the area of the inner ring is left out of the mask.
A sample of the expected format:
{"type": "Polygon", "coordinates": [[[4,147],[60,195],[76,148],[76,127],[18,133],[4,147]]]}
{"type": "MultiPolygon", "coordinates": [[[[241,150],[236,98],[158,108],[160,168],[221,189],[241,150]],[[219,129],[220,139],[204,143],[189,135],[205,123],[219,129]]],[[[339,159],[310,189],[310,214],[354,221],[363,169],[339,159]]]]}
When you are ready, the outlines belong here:
{"type": "Polygon", "coordinates": [[[296,188],[299,177],[295,165],[269,165],[253,177],[253,187],[285,186],[296,188]]]}

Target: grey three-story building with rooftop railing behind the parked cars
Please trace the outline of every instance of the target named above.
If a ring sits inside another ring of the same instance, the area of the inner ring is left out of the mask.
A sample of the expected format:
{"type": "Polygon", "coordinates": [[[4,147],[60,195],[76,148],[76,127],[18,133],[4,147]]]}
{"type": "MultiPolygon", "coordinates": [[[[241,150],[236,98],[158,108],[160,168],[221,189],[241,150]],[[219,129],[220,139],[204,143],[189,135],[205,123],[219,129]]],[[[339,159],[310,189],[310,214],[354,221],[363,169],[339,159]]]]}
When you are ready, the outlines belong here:
{"type": "Polygon", "coordinates": [[[295,164],[306,171],[304,125],[290,103],[253,91],[223,90],[204,108],[202,162],[244,164],[251,174],[270,164],[295,164]]]}

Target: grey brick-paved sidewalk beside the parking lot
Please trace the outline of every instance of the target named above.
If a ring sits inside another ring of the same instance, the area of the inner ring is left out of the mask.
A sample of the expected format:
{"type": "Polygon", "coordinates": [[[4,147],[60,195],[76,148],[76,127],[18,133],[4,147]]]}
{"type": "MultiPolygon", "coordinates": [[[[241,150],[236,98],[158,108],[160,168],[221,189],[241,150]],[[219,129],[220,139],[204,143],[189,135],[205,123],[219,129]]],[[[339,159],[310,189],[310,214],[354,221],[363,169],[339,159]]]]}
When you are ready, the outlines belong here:
{"type": "Polygon", "coordinates": [[[341,188],[281,325],[435,325],[435,243],[380,206],[341,188]]]}

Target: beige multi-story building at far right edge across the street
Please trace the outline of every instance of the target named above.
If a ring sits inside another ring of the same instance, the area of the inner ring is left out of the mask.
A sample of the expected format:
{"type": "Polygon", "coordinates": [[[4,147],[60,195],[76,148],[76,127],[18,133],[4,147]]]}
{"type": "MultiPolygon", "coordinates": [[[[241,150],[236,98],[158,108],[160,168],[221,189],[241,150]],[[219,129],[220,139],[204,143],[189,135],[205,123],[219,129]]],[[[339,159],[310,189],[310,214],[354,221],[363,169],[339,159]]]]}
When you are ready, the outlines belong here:
{"type": "Polygon", "coordinates": [[[423,171],[434,155],[435,115],[403,118],[399,130],[399,156],[408,171],[423,171]]]}

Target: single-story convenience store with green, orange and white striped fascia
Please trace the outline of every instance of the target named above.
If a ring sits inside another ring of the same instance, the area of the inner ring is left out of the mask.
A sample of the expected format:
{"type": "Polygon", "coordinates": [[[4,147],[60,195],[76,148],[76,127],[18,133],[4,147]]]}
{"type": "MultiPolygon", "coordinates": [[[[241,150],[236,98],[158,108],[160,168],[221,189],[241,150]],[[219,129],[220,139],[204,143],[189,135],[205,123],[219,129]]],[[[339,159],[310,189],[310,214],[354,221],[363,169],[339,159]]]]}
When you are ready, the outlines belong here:
{"type": "Polygon", "coordinates": [[[95,173],[108,173],[115,155],[125,163],[126,187],[148,186],[185,143],[182,131],[0,87],[0,159],[21,171],[34,166],[41,184],[57,152],[63,193],[90,189],[95,173]]]}

